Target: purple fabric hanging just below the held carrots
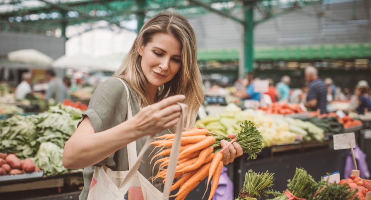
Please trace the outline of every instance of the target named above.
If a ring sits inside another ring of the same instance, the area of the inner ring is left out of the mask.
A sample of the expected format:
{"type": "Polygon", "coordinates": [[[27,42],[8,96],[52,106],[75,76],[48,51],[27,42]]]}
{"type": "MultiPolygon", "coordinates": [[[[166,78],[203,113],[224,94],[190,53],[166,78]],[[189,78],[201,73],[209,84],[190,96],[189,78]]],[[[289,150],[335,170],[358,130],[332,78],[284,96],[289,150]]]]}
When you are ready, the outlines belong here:
{"type": "Polygon", "coordinates": [[[228,177],[227,170],[228,168],[223,166],[219,178],[218,187],[216,188],[212,200],[233,200],[233,182],[228,177]]]}

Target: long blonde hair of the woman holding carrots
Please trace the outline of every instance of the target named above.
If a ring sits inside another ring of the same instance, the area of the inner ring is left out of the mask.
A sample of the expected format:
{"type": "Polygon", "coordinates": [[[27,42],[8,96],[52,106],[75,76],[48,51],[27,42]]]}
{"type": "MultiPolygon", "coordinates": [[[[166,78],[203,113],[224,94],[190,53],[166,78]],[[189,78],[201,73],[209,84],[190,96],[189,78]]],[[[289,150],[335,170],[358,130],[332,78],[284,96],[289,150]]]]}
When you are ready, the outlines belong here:
{"type": "Polygon", "coordinates": [[[147,90],[147,79],[142,68],[138,50],[147,45],[155,33],[167,33],[173,35],[181,44],[181,68],[173,79],[159,87],[155,95],[155,101],[160,101],[168,96],[184,94],[187,111],[184,113],[184,127],[193,126],[197,111],[203,101],[202,79],[197,64],[196,35],[189,24],[179,13],[162,12],[149,19],[138,33],[133,46],[127,57],[116,72],[116,76],[126,80],[138,94],[139,106],[145,107],[151,104],[147,90]]]}

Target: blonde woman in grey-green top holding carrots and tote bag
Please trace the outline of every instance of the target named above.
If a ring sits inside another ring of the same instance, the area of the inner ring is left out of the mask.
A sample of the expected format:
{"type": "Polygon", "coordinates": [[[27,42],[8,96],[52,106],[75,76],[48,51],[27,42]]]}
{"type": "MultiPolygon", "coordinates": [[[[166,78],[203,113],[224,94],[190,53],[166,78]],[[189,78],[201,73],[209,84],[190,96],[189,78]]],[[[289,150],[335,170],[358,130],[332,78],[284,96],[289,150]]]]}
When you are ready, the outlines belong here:
{"type": "MultiPolygon", "coordinates": [[[[181,115],[177,102],[187,105],[184,127],[193,126],[203,100],[196,56],[196,36],[180,14],[160,13],[145,23],[116,73],[129,87],[134,117],[126,119],[125,87],[118,78],[110,78],[95,90],[83,120],[66,142],[63,165],[85,168],[85,186],[79,199],[87,198],[92,165],[128,170],[128,143],[136,141],[139,151],[145,142],[143,136],[163,135],[168,128],[174,128],[181,115]]],[[[222,146],[226,144],[221,141],[222,146]]],[[[152,149],[146,151],[138,170],[146,178],[152,176],[152,149]]],[[[224,164],[242,153],[238,143],[230,145],[224,153],[224,164]]],[[[161,180],[153,184],[161,190],[161,180]]]]}

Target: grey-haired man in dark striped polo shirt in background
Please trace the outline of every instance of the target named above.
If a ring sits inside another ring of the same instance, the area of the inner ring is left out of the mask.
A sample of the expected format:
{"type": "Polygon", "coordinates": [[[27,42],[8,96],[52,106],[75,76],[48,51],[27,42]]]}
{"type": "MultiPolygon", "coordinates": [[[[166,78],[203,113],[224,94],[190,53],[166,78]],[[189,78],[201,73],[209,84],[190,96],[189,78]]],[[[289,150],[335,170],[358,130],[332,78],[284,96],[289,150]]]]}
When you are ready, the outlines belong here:
{"type": "Polygon", "coordinates": [[[305,107],[314,111],[320,110],[321,114],[327,113],[327,87],[321,79],[318,78],[316,68],[309,66],[305,68],[305,79],[309,83],[309,91],[306,97],[305,107]]]}

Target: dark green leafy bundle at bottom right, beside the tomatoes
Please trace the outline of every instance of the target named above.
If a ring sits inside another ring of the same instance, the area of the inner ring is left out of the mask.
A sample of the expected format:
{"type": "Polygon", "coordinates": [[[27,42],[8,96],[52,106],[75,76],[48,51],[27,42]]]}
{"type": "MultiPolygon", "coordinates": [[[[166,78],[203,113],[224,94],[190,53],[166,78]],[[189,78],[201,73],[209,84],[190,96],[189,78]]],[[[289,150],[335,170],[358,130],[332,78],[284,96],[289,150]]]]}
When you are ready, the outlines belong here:
{"type": "Polygon", "coordinates": [[[328,183],[320,181],[318,183],[318,191],[313,196],[313,200],[356,200],[354,197],[357,190],[352,190],[348,184],[328,183]]]}

